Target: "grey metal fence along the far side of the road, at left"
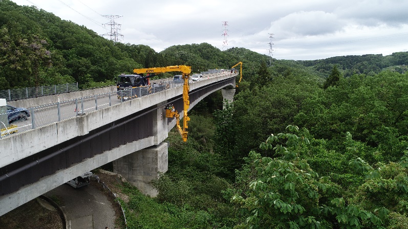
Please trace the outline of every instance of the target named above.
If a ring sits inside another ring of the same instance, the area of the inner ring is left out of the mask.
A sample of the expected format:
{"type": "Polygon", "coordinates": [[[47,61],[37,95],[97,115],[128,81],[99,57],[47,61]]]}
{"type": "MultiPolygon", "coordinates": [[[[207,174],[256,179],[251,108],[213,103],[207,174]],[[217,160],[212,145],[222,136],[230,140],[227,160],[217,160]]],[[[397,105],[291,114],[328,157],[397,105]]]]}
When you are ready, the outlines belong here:
{"type": "Polygon", "coordinates": [[[0,90],[0,98],[6,101],[27,99],[37,96],[46,96],[58,93],[66,93],[68,91],[78,90],[78,83],[66,83],[51,86],[26,87],[18,89],[0,90]]]}

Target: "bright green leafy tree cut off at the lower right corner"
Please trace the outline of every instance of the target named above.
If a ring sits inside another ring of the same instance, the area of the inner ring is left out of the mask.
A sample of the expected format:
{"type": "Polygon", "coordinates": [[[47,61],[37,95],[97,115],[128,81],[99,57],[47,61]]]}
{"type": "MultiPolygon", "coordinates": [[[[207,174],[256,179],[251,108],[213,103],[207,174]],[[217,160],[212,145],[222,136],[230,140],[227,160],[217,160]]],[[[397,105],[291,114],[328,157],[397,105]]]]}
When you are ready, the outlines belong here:
{"type": "Polygon", "coordinates": [[[408,150],[398,163],[372,168],[360,158],[349,163],[367,177],[350,202],[375,212],[388,228],[408,228],[408,150]]]}

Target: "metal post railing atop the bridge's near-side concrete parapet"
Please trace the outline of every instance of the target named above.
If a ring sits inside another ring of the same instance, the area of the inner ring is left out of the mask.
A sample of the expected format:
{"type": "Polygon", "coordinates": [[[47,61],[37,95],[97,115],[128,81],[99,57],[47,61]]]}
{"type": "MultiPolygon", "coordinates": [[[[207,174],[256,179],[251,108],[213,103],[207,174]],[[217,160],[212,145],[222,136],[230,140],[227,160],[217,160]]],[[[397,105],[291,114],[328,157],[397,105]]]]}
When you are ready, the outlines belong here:
{"type": "MultiPolygon", "coordinates": [[[[117,103],[122,103],[127,100],[140,98],[179,86],[183,86],[183,83],[175,83],[174,81],[160,82],[127,90],[110,91],[109,93],[31,107],[29,108],[30,117],[27,119],[28,121],[17,120],[13,124],[17,125],[17,132],[27,131],[75,116],[81,116],[86,112],[99,110],[117,103]]],[[[4,134],[2,131],[0,139],[2,138],[2,135],[8,135],[7,132],[7,129],[4,134]]]]}

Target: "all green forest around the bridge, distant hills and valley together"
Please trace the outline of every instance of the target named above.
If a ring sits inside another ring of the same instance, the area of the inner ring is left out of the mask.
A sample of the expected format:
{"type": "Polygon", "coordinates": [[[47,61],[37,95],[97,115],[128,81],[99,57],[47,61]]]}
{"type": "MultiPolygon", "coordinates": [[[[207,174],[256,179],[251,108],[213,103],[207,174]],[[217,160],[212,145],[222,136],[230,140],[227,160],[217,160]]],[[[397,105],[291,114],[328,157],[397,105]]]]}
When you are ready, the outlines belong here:
{"type": "Polygon", "coordinates": [[[408,228],[408,53],[268,66],[244,48],[156,53],[8,0],[0,11],[0,89],[244,63],[232,104],[221,109],[218,91],[191,110],[187,143],[169,133],[157,198],[118,187],[127,228],[408,228]]]}

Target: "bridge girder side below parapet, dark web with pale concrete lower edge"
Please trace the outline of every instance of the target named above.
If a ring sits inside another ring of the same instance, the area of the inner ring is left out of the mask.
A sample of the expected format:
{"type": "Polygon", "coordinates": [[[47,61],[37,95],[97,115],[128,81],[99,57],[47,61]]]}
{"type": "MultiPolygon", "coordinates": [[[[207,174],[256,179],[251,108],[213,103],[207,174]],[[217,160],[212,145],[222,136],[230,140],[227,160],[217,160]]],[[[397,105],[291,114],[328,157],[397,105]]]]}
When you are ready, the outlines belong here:
{"type": "MultiPolygon", "coordinates": [[[[190,109],[212,92],[234,84],[235,78],[230,78],[190,91],[190,109]]],[[[165,127],[157,125],[157,117],[165,117],[162,105],[167,103],[183,110],[179,96],[0,168],[0,215],[87,171],[159,145],[175,125],[171,119],[165,127]],[[165,133],[158,133],[161,130],[165,133]]]]}

